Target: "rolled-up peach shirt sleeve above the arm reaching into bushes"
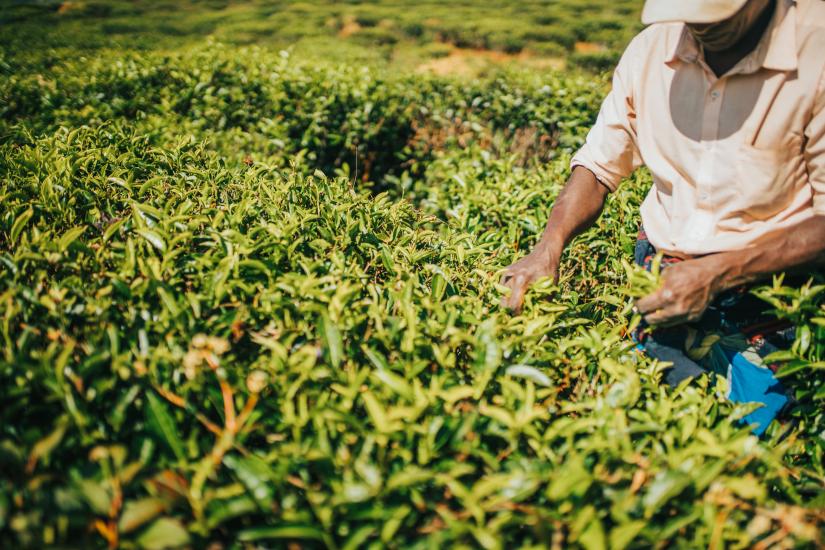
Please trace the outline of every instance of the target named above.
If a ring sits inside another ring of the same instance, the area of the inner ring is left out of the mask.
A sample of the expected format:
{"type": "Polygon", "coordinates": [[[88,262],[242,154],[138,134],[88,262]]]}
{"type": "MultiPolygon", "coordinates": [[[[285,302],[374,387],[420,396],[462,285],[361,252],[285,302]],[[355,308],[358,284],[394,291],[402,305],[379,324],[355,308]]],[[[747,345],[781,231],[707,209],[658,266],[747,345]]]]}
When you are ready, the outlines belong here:
{"type": "Polygon", "coordinates": [[[642,164],[636,141],[633,74],[638,56],[644,55],[639,51],[640,42],[637,36],[622,55],[596,124],[570,162],[571,169],[583,166],[593,172],[610,191],[615,191],[619,182],[642,164]]]}

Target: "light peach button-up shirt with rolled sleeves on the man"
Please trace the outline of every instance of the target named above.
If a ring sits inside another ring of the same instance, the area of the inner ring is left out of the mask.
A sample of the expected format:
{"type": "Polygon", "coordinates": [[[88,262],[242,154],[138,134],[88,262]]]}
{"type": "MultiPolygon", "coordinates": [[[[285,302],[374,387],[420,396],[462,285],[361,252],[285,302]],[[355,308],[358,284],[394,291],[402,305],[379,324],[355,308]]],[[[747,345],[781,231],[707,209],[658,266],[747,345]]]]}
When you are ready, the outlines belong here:
{"type": "Polygon", "coordinates": [[[615,190],[645,164],[658,250],[746,248],[825,215],[825,1],[778,0],[756,49],[717,78],[684,24],[628,46],[571,166],[615,190]]]}

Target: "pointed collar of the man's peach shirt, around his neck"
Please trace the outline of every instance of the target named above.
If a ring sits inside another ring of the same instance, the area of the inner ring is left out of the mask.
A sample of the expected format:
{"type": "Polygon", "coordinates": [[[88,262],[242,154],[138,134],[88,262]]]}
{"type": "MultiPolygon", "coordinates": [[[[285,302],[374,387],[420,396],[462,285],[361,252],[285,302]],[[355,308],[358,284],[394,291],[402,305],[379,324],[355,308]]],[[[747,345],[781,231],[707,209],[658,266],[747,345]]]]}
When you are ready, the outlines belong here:
{"type": "MultiPolygon", "coordinates": [[[[682,25],[675,46],[669,48],[666,63],[677,59],[696,63],[702,55],[700,45],[682,25]]],[[[776,13],[756,48],[737,65],[736,72],[755,72],[760,68],[774,71],[794,71],[798,68],[796,51],[796,0],[777,0],[776,13]]]]}

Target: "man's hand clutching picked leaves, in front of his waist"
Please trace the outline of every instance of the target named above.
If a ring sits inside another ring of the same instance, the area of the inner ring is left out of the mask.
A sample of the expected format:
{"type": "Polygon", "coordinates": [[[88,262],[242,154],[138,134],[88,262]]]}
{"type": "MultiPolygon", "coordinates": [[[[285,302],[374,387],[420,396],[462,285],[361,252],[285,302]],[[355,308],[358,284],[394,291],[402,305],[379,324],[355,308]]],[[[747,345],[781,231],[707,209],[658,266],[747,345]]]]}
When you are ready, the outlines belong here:
{"type": "Polygon", "coordinates": [[[650,325],[670,326],[698,321],[719,294],[719,271],[711,257],[686,260],[662,273],[662,286],[636,302],[650,325]]]}

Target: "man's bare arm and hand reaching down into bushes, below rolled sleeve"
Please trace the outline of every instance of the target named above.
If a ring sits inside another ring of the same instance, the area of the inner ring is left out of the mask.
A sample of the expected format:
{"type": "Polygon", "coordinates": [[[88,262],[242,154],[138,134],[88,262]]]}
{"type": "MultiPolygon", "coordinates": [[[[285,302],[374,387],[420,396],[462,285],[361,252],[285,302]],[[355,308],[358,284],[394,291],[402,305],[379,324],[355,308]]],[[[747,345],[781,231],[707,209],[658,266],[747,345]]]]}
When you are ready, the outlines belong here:
{"type": "Polygon", "coordinates": [[[517,261],[504,274],[502,283],[510,288],[504,305],[521,311],[524,293],[542,277],[558,279],[559,260],[564,247],[598,219],[609,190],[599,183],[593,172],[582,166],[573,169],[562,189],[550,219],[533,251],[517,261]]]}

